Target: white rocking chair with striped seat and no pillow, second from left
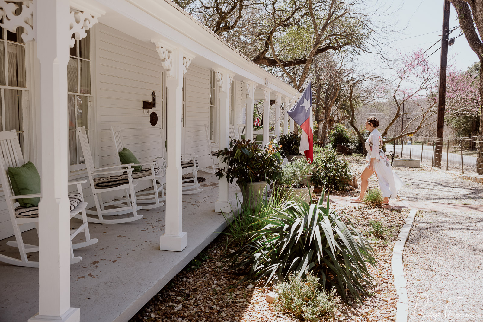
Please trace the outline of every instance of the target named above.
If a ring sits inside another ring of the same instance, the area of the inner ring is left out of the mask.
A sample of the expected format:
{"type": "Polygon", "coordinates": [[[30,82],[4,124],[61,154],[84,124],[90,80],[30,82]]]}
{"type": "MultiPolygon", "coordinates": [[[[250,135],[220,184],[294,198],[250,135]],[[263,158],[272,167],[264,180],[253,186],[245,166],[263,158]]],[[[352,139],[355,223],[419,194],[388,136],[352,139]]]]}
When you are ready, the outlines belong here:
{"type": "Polygon", "coordinates": [[[87,174],[89,176],[89,183],[92,189],[92,195],[96,204],[96,210],[86,210],[88,214],[95,215],[98,218],[87,217],[87,220],[97,224],[121,224],[128,223],[142,218],[142,215],[137,213],[142,206],[136,203],[136,194],[134,193],[134,186],[138,184],[132,178],[132,170],[129,166],[134,163],[116,165],[104,168],[95,168],[94,160],[90,152],[89,141],[85,133],[85,127],[77,127],[79,134],[79,141],[81,143],[82,152],[84,153],[85,165],[87,167],[87,174]],[[126,168],[129,167],[129,168],[126,168]],[[120,174],[114,176],[113,174],[120,174]],[[108,177],[99,177],[101,175],[110,175],[108,177]],[[103,202],[101,193],[128,190],[126,198],[114,201],[103,202]],[[108,209],[106,209],[108,207],[108,209]],[[119,219],[105,219],[103,216],[124,215],[132,213],[132,217],[119,219]]]}

